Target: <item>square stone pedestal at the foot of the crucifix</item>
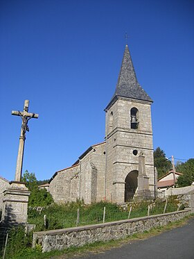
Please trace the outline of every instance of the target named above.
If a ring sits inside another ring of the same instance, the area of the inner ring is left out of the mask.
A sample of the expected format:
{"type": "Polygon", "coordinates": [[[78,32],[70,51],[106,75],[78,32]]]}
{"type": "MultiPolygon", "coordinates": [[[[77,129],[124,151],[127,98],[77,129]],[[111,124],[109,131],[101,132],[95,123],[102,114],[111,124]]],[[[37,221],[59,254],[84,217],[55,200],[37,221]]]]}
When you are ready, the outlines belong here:
{"type": "Polygon", "coordinates": [[[1,220],[5,224],[26,224],[28,218],[28,197],[30,192],[25,183],[12,181],[3,192],[1,220]]]}

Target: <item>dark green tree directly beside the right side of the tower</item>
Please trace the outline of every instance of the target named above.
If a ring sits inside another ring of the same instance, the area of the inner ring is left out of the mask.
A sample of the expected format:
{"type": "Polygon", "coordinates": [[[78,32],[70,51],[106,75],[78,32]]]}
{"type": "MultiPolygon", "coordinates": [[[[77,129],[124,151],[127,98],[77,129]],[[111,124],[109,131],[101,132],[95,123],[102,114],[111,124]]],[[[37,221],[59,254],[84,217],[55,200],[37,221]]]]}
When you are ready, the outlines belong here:
{"type": "Polygon", "coordinates": [[[172,167],[171,162],[166,158],[166,154],[160,147],[154,151],[154,164],[157,167],[158,178],[164,176],[172,167]]]}

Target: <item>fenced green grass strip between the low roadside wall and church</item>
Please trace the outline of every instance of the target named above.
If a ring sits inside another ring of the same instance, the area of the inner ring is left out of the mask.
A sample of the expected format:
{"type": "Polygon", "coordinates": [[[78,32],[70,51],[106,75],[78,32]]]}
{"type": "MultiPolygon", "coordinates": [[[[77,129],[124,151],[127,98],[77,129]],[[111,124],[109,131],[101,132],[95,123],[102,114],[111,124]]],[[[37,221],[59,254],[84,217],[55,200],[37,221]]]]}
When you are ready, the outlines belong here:
{"type": "MultiPolygon", "coordinates": [[[[130,218],[144,217],[148,215],[148,202],[132,203],[130,218]]],[[[150,215],[164,212],[165,201],[155,201],[150,215]]],[[[127,219],[129,212],[118,207],[116,204],[99,202],[85,205],[82,202],[66,203],[62,205],[53,204],[38,212],[33,208],[28,210],[28,223],[36,225],[36,231],[45,231],[76,226],[77,211],[80,210],[79,226],[99,224],[103,222],[103,210],[106,207],[105,222],[113,222],[127,219]],[[46,215],[46,227],[44,226],[44,215],[46,215]]],[[[129,209],[130,207],[128,207],[129,209]]],[[[177,210],[177,203],[174,198],[170,198],[166,212],[177,210]]]]}

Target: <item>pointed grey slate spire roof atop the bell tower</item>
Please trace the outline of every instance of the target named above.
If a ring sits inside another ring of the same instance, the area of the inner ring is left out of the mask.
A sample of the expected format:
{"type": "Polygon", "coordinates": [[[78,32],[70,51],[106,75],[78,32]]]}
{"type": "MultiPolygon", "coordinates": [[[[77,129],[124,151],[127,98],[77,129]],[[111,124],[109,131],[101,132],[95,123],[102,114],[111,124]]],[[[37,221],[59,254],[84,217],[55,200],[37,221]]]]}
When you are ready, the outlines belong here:
{"type": "Polygon", "coordinates": [[[152,99],[143,90],[136,79],[132,58],[127,45],[125,46],[125,52],[123,55],[121,70],[118,76],[116,90],[109,104],[111,104],[112,101],[116,99],[116,97],[127,97],[131,99],[152,102],[152,99]]]}

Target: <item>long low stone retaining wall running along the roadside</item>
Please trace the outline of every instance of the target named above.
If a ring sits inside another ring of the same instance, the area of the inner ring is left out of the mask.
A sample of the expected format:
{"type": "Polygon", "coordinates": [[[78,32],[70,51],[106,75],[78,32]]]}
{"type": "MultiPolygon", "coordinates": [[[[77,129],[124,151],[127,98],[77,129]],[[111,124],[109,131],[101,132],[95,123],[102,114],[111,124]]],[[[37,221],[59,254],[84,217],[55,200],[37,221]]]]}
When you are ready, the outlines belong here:
{"type": "Polygon", "coordinates": [[[42,251],[46,252],[71,246],[81,247],[84,244],[98,241],[118,240],[134,233],[149,231],[153,227],[165,226],[169,222],[175,222],[190,214],[191,209],[185,209],[178,212],[125,219],[105,224],[35,232],[33,235],[33,247],[35,247],[35,244],[41,244],[42,251]]]}

